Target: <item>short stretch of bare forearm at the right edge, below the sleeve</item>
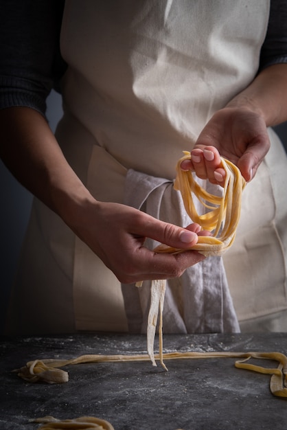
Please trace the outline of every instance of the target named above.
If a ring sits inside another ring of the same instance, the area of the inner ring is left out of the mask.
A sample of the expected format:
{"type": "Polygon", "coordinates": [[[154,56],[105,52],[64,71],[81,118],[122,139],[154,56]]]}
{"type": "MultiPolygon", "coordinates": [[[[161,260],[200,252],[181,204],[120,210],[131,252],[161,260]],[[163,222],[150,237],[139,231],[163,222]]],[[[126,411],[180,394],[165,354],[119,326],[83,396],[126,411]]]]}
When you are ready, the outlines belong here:
{"type": "Polygon", "coordinates": [[[287,64],[264,69],[227,107],[246,107],[264,117],[266,126],[287,120],[287,64]]]}

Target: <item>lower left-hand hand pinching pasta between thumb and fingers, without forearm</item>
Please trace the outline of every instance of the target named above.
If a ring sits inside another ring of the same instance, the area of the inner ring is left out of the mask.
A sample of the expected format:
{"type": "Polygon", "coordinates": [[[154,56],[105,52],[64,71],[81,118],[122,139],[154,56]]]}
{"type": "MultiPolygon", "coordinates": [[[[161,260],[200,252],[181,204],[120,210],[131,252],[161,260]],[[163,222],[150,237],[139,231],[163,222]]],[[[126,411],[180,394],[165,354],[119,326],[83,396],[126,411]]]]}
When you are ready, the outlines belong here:
{"type": "Polygon", "coordinates": [[[205,257],[197,251],[176,255],[154,253],[144,246],[152,238],[172,247],[188,248],[198,241],[198,224],[186,229],[164,223],[133,207],[117,203],[89,201],[79,208],[73,231],[94,251],[106,266],[126,284],[142,280],[180,276],[187,267],[205,257]]]}

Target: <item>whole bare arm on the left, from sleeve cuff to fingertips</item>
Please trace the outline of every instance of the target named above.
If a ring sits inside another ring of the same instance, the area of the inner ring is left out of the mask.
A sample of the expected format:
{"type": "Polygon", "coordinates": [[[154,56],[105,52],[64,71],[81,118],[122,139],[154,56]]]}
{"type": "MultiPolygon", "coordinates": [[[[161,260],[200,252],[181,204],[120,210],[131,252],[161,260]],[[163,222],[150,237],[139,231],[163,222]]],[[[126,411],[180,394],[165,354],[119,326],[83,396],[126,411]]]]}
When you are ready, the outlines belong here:
{"type": "Polygon", "coordinates": [[[198,226],[183,229],[133,207],[93,199],[37,111],[3,109],[0,127],[0,155],[12,174],[54,210],[120,282],[174,278],[203,260],[196,251],[172,256],[144,247],[148,237],[190,249],[198,240],[198,226]]]}

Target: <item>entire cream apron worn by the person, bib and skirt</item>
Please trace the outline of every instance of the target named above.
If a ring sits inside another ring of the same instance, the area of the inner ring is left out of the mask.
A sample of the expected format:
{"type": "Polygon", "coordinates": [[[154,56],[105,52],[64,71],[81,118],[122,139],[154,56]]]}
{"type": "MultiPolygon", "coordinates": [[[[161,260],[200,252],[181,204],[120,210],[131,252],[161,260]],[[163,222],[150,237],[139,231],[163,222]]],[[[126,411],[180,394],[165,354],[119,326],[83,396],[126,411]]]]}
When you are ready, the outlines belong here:
{"type": "MultiPolygon", "coordinates": [[[[96,199],[123,203],[130,169],[174,179],[182,150],[190,150],[211,115],[253,80],[268,12],[268,1],[66,1],[61,49],[69,68],[56,135],[96,199]]],[[[287,308],[287,207],[279,195],[287,161],[276,136],[271,142],[244,191],[238,238],[225,258],[246,330],[254,319],[287,308]]],[[[19,304],[28,302],[28,310],[19,306],[22,316],[18,308],[19,326],[127,330],[113,273],[38,201],[32,218],[19,270],[21,293],[15,290],[19,304]],[[58,293],[62,302],[53,307],[58,293]],[[29,317],[38,303],[48,303],[52,316],[41,308],[29,317]]]]}

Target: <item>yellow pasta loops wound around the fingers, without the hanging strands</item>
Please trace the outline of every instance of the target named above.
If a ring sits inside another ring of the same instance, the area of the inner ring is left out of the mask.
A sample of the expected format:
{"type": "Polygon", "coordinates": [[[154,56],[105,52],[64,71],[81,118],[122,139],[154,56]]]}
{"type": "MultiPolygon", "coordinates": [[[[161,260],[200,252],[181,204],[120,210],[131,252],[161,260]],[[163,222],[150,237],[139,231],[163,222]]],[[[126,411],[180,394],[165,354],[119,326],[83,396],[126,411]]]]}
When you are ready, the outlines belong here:
{"type": "MultiPolygon", "coordinates": [[[[181,169],[182,161],[191,159],[190,152],[184,151],[184,154],[176,164],[174,188],[181,192],[185,210],[192,221],[198,223],[202,229],[213,231],[213,236],[198,236],[198,242],[190,249],[205,256],[220,256],[231,247],[235,239],[240,219],[242,191],[246,181],[238,167],[231,161],[221,158],[222,168],[226,172],[223,194],[222,196],[211,194],[198,185],[192,172],[181,169]],[[198,215],[192,194],[209,210],[206,214],[198,215]]],[[[154,249],[159,253],[179,253],[186,250],[163,244],[154,249]]]]}

